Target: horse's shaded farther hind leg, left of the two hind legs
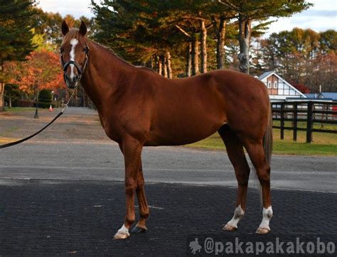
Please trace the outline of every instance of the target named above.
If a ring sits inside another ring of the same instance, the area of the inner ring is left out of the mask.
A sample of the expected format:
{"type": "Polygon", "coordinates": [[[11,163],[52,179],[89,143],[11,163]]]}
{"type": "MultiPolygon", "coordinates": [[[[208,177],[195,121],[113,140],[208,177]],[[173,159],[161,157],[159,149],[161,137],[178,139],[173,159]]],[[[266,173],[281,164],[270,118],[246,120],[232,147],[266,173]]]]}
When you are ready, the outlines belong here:
{"type": "Polygon", "coordinates": [[[235,176],[237,178],[237,201],[234,216],[223,227],[224,230],[235,231],[237,229],[237,223],[242,219],[245,214],[246,196],[248,179],[250,176],[250,166],[247,163],[245,152],[243,151],[243,144],[237,138],[237,135],[228,126],[223,126],[218,131],[221,138],[225,143],[228,157],[232,163],[235,176]]]}

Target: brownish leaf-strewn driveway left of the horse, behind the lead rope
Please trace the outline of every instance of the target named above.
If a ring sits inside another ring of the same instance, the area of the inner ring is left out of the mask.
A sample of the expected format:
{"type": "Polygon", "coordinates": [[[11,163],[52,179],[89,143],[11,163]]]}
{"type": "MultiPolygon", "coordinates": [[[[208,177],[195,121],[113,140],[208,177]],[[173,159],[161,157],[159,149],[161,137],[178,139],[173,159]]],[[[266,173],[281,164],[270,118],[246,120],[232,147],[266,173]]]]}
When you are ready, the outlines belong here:
{"type": "MultiPolygon", "coordinates": [[[[0,143],[30,136],[48,124],[61,109],[39,109],[39,119],[34,119],[35,111],[0,112],[0,143]]],[[[100,124],[97,111],[87,108],[69,107],[65,114],[39,134],[38,141],[109,141],[100,124]]]]}

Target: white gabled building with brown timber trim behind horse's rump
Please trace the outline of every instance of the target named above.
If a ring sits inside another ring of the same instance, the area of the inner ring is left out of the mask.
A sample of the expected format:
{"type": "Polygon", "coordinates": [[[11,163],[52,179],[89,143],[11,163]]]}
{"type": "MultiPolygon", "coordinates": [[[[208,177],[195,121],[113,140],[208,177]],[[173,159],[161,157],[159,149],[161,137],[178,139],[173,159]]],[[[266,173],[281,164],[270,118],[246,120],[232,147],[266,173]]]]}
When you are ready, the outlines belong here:
{"type": "Polygon", "coordinates": [[[306,99],[306,95],[302,94],[298,89],[291,86],[287,81],[282,79],[276,72],[264,72],[257,77],[268,89],[269,99],[275,101],[285,101],[286,99],[306,99]]]}

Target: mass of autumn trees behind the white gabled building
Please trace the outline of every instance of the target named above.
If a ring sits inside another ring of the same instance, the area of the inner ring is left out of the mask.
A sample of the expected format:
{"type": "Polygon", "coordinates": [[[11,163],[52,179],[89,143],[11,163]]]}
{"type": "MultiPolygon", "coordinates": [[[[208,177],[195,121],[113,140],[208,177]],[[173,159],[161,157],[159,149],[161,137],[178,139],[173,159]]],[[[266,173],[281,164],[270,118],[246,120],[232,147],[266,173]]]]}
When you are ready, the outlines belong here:
{"type": "Polygon", "coordinates": [[[311,92],[336,91],[337,59],[333,44],[336,31],[317,33],[294,28],[272,33],[261,41],[263,70],[275,70],[293,84],[305,84],[311,92]]]}

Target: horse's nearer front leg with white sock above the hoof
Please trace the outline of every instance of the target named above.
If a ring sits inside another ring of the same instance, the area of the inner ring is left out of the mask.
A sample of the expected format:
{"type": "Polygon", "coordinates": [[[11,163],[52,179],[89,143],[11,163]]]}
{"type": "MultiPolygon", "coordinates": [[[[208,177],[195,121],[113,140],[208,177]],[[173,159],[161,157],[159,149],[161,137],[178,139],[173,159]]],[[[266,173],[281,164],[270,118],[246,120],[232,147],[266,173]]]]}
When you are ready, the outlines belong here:
{"type": "Polygon", "coordinates": [[[123,226],[114,234],[114,239],[127,239],[129,228],[134,222],[134,195],[137,189],[137,174],[141,164],[141,149],[143,144],[128,136],[123,140],[122,152],[125,164],[125,196],[126,214],[123,226]]]}

